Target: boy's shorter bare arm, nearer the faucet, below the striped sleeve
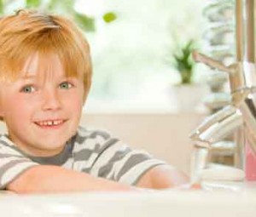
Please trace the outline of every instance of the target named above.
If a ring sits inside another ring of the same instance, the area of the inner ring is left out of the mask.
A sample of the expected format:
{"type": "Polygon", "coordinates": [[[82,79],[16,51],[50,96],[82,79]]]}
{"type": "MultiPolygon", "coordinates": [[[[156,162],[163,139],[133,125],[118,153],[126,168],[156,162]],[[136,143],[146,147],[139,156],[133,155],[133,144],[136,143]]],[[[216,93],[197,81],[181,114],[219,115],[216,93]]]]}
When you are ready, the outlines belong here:
{"type": "Polygon", "coordinates": [[[161,189],[188,184],[188,182],[189,178],[177,168],[160,165],[143,174],[137,182],[137,187],[161,189]]]}

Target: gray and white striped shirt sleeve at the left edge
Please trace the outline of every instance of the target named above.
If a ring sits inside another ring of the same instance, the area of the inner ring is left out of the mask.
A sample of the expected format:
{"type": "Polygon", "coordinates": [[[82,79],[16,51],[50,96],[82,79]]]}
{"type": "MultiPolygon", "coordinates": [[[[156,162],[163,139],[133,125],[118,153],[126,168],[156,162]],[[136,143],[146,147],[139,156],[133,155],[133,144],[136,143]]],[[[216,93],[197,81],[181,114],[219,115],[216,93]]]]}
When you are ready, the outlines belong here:
{"type": "Polygon", "coordinates": [[[28,168],[38,165],[24,157],[14,146],[10,146],[4,136],[0,137],[0,190],[28,168]]]}

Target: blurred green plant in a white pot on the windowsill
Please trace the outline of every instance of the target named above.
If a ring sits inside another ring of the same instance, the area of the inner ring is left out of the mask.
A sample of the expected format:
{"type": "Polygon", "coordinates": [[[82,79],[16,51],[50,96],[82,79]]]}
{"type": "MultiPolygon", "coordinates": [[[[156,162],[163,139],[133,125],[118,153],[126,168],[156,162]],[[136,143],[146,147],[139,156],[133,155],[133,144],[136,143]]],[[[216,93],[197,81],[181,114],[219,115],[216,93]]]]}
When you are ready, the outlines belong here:
{"type": "Polygon", "coordinates": [[[176,43],[172,51],[172,67],[179,74],[180,82],[172,86],[179,111],[194,111],[206,94],[206,87],[201,83],[195,83],[195,61],[192,59],[192,51],[195,49],[195,41],[176,43]]]}

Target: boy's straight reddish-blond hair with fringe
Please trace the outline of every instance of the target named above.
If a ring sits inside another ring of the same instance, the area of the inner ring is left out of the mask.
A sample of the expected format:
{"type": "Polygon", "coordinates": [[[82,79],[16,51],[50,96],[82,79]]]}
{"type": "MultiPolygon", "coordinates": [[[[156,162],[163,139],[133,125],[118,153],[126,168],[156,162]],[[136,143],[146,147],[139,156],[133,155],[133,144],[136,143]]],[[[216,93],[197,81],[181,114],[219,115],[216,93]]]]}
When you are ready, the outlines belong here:
{"type": "Polygon", "coordinates": [[[86,98],[92,71],[90,47],[71,20],[26,9],[0,19],[0,79],[17,78],[27,58],[35,53],[44,57],[57,54],[67,77],[82,74],[86,98]]]}

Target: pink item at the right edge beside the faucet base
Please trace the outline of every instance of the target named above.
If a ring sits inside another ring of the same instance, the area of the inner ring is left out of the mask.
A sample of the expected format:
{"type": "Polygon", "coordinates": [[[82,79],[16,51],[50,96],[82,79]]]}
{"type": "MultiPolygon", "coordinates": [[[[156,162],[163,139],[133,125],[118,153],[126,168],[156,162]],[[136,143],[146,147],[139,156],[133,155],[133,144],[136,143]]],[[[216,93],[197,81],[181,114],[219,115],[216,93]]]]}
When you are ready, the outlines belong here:
{"type": "Polygon", "coordinates": [[[256,155],[248,145],[246,145],[245,170],[246,180],[256,180],[256,155]]]}

